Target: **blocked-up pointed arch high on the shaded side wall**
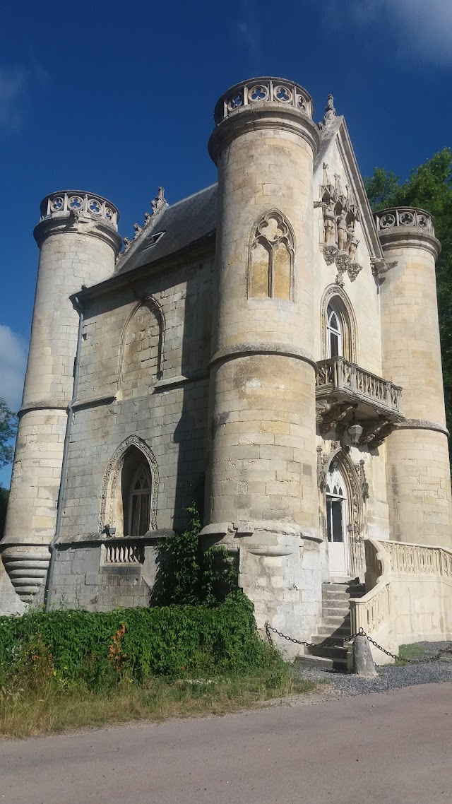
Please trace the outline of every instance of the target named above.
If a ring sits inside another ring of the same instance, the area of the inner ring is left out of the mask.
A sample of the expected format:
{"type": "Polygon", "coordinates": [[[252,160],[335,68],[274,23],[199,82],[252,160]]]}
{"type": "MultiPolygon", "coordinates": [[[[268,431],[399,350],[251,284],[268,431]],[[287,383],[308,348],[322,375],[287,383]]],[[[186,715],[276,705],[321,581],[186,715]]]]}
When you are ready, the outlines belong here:
{"type": "MultiPolygon", "coordinates": [[[[162,306],[154,296],[142,298],[130,311],[122,329],[117,372],[117,399],[125,391],[125,376],[134,371],[129,385],[139,387],[143,376],[151,380],[163,374],[165,347],[165,316],[162,306]],[[150,326],[146,327],[146,318],[150,326]],[[152,322],[154,321],[154,327],[152,322]],[[134,326],[134,323],[137,326],[134,326]],[[128,354],[128,352],[130,354],[128,354]],[[131,369],[132,367],[132,369],[131,369]]],[[[130,390],[130,389],[128,389],[130,390]]]]}

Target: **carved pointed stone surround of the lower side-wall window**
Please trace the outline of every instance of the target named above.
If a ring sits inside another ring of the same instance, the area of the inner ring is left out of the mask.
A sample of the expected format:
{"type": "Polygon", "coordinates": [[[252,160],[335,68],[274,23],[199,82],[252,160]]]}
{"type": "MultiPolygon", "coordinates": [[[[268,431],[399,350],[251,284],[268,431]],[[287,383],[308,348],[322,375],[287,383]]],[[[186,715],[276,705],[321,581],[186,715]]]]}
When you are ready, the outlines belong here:
{"type": "MultiPolygon", "coordinates": [[[[101,509],[99,512],[99,532],[109,524],[117,528],[117,534],[124,530],[124,509],[122,503],[121,474],[125,460],[132,449],[138,449],[146,459],[150,472],[150,530],[157,528],[158,466],[152,449],[138,436],[129,436],[115,449],[105,469],[101,486],[101,509]]],[[[124,534],[127,535],[127,534],[124,534]]]]}

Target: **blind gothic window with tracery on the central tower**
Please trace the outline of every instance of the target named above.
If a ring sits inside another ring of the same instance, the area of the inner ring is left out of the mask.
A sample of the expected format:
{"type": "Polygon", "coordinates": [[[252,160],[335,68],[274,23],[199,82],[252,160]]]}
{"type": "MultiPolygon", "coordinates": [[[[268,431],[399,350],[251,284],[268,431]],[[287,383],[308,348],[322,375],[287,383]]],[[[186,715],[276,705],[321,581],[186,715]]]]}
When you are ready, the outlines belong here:
{"type": "Polygon", "coordinates": [[[295,299],[295,235],[286,216],[270,209],[253,226],[249,238],[249,298],[295,299]]]}

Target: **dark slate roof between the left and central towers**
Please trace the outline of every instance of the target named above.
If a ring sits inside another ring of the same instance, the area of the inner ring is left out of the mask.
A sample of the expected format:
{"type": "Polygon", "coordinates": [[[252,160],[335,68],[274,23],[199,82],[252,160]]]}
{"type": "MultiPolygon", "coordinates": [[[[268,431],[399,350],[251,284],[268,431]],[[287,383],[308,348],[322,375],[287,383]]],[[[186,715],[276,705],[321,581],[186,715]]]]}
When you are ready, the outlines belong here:
{"type": "Polygon", "coordinates": [[[171,207],[166,207],[156,219],[149,232],[143,232],[137,248],[130,256],[122,257],[117,267],[117,275],[128,273],[142,265],[150,265],[155,260],[179,252],[190,244],[202,240],[216,230],[216,184],[189,195],[171,207]],[[158,232],[162,237],[153,244],[158,232]]]}

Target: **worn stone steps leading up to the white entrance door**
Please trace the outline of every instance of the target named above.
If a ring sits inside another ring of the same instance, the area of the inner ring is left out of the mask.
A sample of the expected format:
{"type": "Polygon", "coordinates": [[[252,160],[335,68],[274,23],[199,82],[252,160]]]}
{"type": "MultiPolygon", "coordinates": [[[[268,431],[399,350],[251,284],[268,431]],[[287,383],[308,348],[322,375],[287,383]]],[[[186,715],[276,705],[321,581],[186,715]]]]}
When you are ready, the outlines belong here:
{"type": "Polygon", "coordinates": [[[363,597],[364,584],[355,581],[325,583],[322,586],[322,620],[317,634],[311,637],[315,647],[306,648],[306,654],[298,658],[302,665],[323,667],[328,670],[347,671],[347,643],[331,645],[329,640],[341,639],[351,634],[351,597],[363,597]]]}

